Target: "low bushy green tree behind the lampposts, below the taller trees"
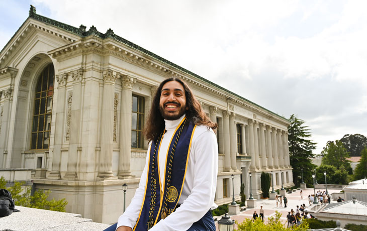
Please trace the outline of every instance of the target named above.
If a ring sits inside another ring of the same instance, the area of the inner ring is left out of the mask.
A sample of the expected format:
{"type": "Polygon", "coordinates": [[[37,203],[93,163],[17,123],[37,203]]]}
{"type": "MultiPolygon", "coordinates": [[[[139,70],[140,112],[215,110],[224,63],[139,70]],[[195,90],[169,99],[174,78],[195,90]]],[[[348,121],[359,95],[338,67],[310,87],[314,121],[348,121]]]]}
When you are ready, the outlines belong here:
{"type": "Polygon", "coordinates": [[[326,183],[328,184],[348,184],[349,182],[348,172],[344,166],[337,169],[332,165],[321,164],[316,169],[316,177],[319,184],[325,184],[324,172],[326,172],[326,183]]]}

